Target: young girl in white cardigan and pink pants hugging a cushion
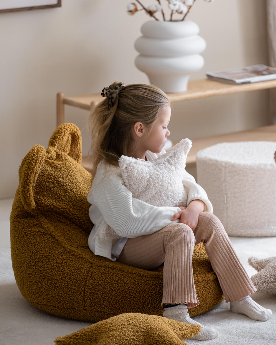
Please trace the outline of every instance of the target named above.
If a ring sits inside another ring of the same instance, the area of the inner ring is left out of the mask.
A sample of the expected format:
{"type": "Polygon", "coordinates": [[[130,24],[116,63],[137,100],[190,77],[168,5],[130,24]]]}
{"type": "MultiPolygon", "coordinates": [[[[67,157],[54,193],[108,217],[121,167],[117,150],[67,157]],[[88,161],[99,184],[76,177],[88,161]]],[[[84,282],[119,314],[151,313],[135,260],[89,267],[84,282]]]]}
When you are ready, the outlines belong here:
{"type": "MultiPolygon", "coordinates": [[[[157,207],[132,198],[124,186],[118,159],[125,155],[152,161],[164,154],[170,135],[171,109],[167,95],[151,85],[123,86],[114,82],[102,90],[106,97],[93,110],[92,186],[87,197],[95,226],[88,243],[93,253],[126,265],[153,269],[164,262],[163,316],[199,324],[188,308],[199,304],[192,267],[194,246],[203,242],[230,311],[266,321],[270,309],[249,297],[256,291],[231,245],[220,220],[213,215],[207,194],[187,172],[183,184],[186,207],[157,207]],[[187,185],[185,183],[187,181],[187,185]],[[120,236],[100,240],[106,222],[120,236]]],[[[197,340],[217,337],[214,328],[201,326],[197,340]]]]}

